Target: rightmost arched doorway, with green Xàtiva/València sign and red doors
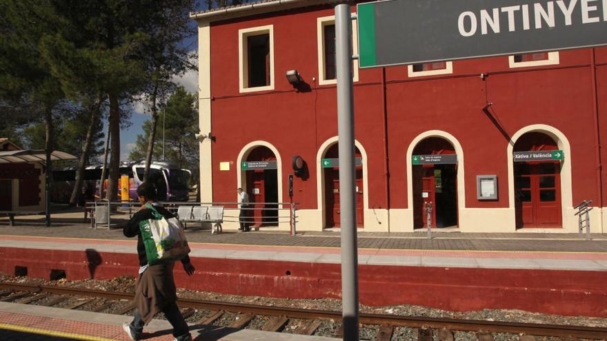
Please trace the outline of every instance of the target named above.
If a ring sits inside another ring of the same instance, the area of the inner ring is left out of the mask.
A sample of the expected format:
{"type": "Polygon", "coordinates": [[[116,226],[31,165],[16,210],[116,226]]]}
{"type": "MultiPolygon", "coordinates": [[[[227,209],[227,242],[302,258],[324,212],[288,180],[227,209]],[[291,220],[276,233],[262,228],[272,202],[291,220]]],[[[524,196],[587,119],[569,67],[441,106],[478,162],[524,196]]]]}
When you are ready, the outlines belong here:
{"type": "Polygon", "coordinates": [[[515,211],[518,228],[559,228],[563,152],[541,132],[522,135],[513,147],[515,211]]]}

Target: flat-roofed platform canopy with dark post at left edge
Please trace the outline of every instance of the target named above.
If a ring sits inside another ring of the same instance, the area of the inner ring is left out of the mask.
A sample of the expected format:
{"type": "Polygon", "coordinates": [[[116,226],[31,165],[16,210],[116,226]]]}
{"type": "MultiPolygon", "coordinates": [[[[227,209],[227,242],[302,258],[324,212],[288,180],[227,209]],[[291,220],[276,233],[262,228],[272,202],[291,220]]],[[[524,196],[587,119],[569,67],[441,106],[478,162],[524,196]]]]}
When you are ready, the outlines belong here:
{"type": "MultiPolygon", "coordinates": [[[[12,144],[13,147],[17,147],[16,145],[12,144]]],[[[45,149],[17,149],[17,150],[1,150],[0,151],[0,167],[6,168],[8,167],[8,172],[12,173],[12,176],[15,176],[15,173],[19,173],[19,175],[17,175],[17,178],[21,177],[21,173],[19,172],[19,168],[18,169],[12,169],[12,171],[10,171],[11,168],[14,167],[20,167],[19,165],[13,165],[13,164],[23,164],[23,163],[40,163],[42,165],[46,165],[46,171],[45,172],[45,176],[46,176],[46,180],[45,180],[45,200],[44,200],[44,206],[45,206],[45,210],[46,210],[46,226],[50,226],[50,165],[48,165],[48,163],[52,163],[52,161],[61,161],[61,160],[74,160],[77,159],[76,156],[66,153],[66,152],[59,152],[57,150],[53,151],[50,154],[50,159],[47,160],[46,158],[46,150],[45,149]]],[[[11,176],[11,177],[12,177],[11,176]]],[[[31,180],[31,178],[30,178],[31,180]]],[[[21,183],[23,183],[24,186],[28,185],[29,181],[26,181],[25,183],[23,181],[19,181],[21,186],[21,183]]],[[[9,196],[12,196],[12,193],[9,194],[9,196]]],[[[12,212],[12,214],[14,214],[14,212],[12,212]]]]}

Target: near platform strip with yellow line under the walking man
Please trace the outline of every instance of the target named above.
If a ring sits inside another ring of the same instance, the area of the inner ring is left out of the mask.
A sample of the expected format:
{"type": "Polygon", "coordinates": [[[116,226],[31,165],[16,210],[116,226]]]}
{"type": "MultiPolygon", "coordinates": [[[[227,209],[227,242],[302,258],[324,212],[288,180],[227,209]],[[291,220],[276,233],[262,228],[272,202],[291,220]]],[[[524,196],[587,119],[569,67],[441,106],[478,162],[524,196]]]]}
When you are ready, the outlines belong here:
{"type": "MultiPolygon", "coordinates": [[[[90,311],[41,307],[0,302],[0,340],[3,341],[128,341],[123,322],[132,317],[90,311]],[[94,321],[94,322],[93,322],[94,321]]],[[[270,333],[252,329],[232,329],[213,325],[190,324],[193,340],[211,341],[330,341],[335,338],[270,333]]],[[[141,340],[169,341],[172,327],[166,320],[152,320],[143,330],[141,340]]]]}

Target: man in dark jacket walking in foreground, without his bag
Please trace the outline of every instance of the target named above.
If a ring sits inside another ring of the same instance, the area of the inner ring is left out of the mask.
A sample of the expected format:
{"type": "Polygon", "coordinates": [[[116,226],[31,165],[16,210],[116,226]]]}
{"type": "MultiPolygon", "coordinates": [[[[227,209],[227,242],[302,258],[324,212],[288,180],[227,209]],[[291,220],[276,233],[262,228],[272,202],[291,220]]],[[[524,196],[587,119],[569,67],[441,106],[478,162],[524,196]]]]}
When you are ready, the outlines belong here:
{"type": "MultiPolygon", "coordinates": [[[[175,341],[191,341],[192,335],[188,324],[183,320],[181,312],[177,307],[177,289],[173,268],[175,262],[162,262],[160,264],[148,265],[146,247],[143,245],[139,223],[154,218],[152,210],[146,208],[146,203],[153,205],[159,214],[165,218],[173,218],[173,215],[163,207],[155,205],[157,200],[156,187],[152,183],[142,183],[137,187],[137,198],[141,208],[123,227],[123,234],[129,238],[137,236],[137,255],[139,256],[139,276],[135,287],[135,318],[132,322],[124,322],[122,329],[126,331],[132,340],[139,340],[143,333],[143,326],[150,322],[156,313],[163,312],[166,319],[173,327],[175,341]]],[[[183,270],[188,276],[194,273],[195,268],[190,263],[190,257],[186,255],[181,259],[183,270]]]]}

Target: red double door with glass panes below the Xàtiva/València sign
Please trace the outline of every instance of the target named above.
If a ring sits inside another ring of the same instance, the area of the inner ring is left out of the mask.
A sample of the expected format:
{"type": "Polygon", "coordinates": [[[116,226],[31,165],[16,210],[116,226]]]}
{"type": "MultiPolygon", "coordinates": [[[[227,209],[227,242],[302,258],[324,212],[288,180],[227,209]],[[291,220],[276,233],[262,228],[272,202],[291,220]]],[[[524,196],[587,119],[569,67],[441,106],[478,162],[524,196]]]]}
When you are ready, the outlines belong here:
{"type": "Polygon", "coordinates": [[[561,227],[560,163],[515,163],[517,227],[561,227]]]}

